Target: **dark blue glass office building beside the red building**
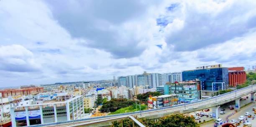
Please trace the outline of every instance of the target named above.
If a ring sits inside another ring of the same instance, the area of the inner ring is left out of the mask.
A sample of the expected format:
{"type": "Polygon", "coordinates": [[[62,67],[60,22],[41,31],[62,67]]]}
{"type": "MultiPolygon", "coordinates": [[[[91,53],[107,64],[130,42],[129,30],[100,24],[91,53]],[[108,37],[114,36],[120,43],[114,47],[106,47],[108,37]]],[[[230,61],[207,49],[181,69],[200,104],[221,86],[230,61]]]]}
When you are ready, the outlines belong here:
{"type": "Polygon", "coordinates": [[[229,84],[228,68],[220,67],[200,70],[188,70],[182,72],[183,81],[195,79],[199,79],[201,81],[202,90],[218,90],[218,88],[225,89],[225,85],[229,84]]]}

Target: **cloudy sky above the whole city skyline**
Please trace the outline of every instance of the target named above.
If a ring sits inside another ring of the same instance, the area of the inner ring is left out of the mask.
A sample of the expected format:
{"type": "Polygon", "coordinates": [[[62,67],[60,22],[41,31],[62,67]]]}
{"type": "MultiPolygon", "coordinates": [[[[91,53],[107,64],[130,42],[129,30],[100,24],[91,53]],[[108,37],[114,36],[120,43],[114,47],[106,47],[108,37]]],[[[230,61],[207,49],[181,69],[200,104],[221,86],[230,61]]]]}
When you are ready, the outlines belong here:
{"type": "Polygon", "coordinates": [[[256,0],[0,0],[0,86],[256,63],[256,0]]]}

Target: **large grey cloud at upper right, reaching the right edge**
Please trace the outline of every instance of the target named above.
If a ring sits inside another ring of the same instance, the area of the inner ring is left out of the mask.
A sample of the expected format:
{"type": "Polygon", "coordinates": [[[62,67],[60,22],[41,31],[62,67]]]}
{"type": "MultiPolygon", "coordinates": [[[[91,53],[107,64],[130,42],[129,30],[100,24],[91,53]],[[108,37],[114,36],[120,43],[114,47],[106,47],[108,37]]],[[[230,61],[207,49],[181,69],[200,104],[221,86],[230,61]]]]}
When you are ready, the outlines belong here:
{"type": "Polygon", "coordinates": [[[176,51],[193,51],[222,43],[241,37],[256,27],[256,12],[248,13],[255,9],[255,5],[248,1],[234,2],[218,13],[202,12],[193,5],[185,7],[184,28],[165,38],[176,51]],[[246,16],[248,14],[251,16],[246,16]]]}

